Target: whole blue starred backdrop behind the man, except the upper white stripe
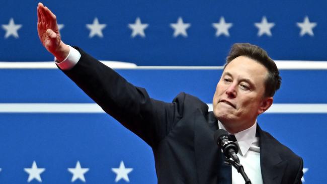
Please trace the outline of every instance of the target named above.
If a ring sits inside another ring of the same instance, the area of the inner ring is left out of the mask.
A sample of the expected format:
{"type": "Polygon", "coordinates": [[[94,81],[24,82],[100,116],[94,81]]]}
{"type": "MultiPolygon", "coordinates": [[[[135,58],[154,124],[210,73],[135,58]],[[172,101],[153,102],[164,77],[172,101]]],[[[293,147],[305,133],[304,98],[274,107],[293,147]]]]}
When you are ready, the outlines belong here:
{"type": "MultiPolygon", "coordinates": [[[[37,3],[0,3],[0,62],[53,61],[37,36],[37,3]]],[[[326,1],[42,3],[56,14],[63,41],[99,60],[221,66],[233,43],[250,42],[275,60],[327,61],[326,1]]],[[[155,99],[170,102],[186,91],[210,106],[221,69],[118,72],[155,99]]],[[[304,159],[308,183],[326,180],[326,74],[281,70],[276,106],[258,119],[304,159]]],[[[0,183],[156,182],[151,149],[61,71],[2,68],[0,85],[0,183]]]]}

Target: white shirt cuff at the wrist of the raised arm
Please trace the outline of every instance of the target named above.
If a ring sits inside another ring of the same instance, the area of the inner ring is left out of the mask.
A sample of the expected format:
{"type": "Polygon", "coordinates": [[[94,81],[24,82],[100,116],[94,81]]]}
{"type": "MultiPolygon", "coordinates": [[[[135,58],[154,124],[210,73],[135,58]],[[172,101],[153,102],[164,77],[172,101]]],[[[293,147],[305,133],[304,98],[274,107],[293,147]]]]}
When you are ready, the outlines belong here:
{"type": "Polygon", "coordinates": [[[74,67],[78,60],[80,59],[80,53],[74,49],[73,47],[71,47],[69,45],[69,54],[68,56],[63,60],[63,61],[58,61],[56,57],[54,57],[54,61],[56,62],[56,64],[58,65],[58,67],[62,70],[69,70],[72,67],[74,67]]]}

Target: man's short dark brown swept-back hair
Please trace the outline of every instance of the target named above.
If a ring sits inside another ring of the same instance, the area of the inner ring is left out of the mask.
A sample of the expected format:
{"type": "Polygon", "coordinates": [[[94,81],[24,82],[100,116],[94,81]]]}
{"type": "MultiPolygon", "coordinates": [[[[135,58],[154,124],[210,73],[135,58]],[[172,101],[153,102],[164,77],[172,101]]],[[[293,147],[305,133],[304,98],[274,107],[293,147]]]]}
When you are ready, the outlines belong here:
{"type": "Polygon", "coordinates": [[[279,76],[279,71],[275,62],[268,56],[267,52],[264,49],[250,43],[235,43],[231,47],[226,58],[224,69],[233,59],[238,56],[249,57],[267,68],[268,74],[265,81],[265,96],[273,97],[276,90],[280,87],[282,78],[279,76]]]}

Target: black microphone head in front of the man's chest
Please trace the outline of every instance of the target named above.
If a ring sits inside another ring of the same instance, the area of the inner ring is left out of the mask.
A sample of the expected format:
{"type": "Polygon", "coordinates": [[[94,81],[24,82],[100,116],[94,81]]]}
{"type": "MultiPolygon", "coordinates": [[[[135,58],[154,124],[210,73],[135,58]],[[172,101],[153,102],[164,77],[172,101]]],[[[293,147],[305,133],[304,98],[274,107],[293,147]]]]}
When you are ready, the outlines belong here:
{"type": "Polygon", "coordinates": [[[232,158],[236,163],[239,163],[239,158],[236,155],[238,152],[238,146],[235,142],[231,141],[227,131],[218,129],[214,135],[214,140],[221,146],[222,152],[225,154],[227,159],[232,158]]]}

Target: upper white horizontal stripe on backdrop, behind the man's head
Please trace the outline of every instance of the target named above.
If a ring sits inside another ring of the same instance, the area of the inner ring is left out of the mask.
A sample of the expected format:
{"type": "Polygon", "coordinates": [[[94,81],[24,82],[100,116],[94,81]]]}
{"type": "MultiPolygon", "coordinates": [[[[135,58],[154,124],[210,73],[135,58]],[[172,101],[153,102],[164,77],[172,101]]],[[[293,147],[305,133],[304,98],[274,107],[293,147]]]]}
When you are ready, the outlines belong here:
{"type": "MultiPolygon", "coordinates": [[[[137,66],[130,62],[101,61],[113,69],[185,69],[185,70],[220,70],[223,66],[137,66]]],[[[276,60],[279,69],[326,70],[327,61],[288,61],[276,60]]],[[[0,69],[57,69],[54,61],[47,62],[0,62],[0,69]]]]}

